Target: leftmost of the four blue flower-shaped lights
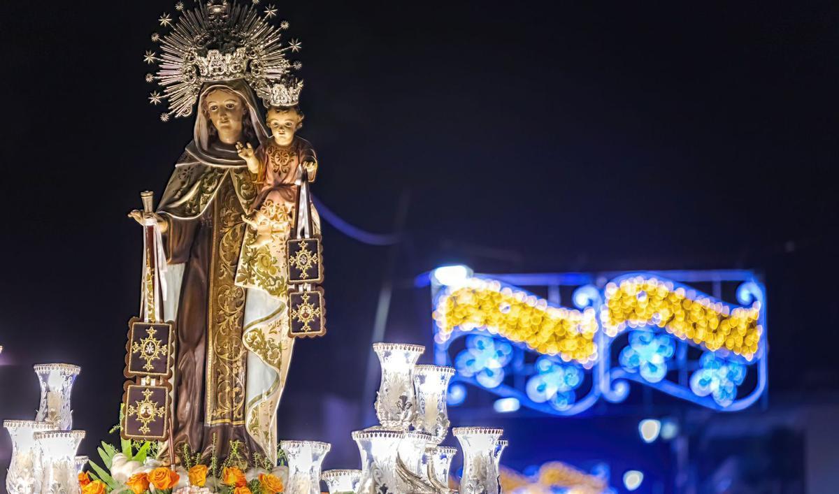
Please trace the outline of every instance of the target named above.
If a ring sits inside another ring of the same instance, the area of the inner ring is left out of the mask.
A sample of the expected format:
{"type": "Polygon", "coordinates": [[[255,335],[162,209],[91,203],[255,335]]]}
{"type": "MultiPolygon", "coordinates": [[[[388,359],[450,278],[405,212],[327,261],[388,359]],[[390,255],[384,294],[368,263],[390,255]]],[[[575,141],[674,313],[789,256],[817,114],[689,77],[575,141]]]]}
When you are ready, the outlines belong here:
{"type": "Polygon", "coordinates": [[[455,358],[455,368],[464,377],[475,377],[483,387],[498,387],[504,380],[504,367],[513,358],[513,346],[491,336],[466,336],[466,350],[455,358]]]}

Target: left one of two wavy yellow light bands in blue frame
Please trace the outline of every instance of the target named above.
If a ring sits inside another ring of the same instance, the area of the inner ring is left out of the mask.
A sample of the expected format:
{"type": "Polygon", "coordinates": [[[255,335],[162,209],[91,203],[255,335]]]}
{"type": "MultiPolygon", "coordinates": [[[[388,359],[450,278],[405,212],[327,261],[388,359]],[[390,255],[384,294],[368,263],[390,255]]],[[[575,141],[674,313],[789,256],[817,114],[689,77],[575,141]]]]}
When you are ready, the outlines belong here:
{"type": "Polygon", "coordinates": [[[495,281],[472,278],[450,288],[437,304],[434,319],[438,338],[451,332],[482,328],[510,341],[524,342],[531,350],[558,355],[563,361],[589,364],[597,358],[597,313],[550,307],[545,299],[503,287],[495,281]]]}

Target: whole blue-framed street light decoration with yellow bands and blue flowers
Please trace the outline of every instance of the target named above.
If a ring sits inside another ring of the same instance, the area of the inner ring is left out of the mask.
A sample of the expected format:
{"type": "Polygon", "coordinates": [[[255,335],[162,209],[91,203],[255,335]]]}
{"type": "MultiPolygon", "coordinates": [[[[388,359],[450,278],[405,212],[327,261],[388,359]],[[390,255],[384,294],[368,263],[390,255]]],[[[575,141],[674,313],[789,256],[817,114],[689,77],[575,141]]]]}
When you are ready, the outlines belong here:
{"type": "Polygon", "coordinates": [[[568,416],[601,398],[623,402],[637,383],[732,412],[766,391],[765,289],[751,271],[492,275],[448,268],[440,278],[446,284],[433,272],[418,282],[432,290],[435,362],[456,367],[456,401],[466,383],[568,416]],[[519,287],[539,287],[547,297],[519,287]],[[571,307],[562,293],[571,294],[571,307]]]}

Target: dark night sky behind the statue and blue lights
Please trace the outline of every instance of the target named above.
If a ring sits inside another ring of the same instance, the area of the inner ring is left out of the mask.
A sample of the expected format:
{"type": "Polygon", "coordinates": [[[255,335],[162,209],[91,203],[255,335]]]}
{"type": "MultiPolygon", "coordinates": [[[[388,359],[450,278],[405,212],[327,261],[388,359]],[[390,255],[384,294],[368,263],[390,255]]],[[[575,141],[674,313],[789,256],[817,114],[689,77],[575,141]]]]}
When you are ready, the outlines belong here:
{"type": "MultiPolygon", "coordinates": [[[[140,190],[159,195],[191,136],[191,119],[159,122],[147,100],[142,55],[164,11],[16,1],[0,17],[0,418],[34,414],[32,364],[80,364],[91,455],[117,421],[138,309],[142,243],[125,214],[140,190]]],[[[411,283],[440,263],[753,268],[769,289],[769,406],[835,401],[836,3],[279,2],[279,15],[304,46],[315,195],[379,232],[409,197],[386,340],[430,346],[428,293],[411,283]]],[[[330,335],[295,349],[281,437],[332,439],[318,419],[330,400],[368,425],[389,250],[330,225],[324,237],[330,335]]],[[[514,467],[536,462],[530,449],[573,463],[572,444],[608,445],[608,459],[630,454],[621,434],[638,442],[636,422],[540,420],[553,442],[513,440],[514,467]]],[[[356,461],[349,432],[327,466],[356,461]]]]}

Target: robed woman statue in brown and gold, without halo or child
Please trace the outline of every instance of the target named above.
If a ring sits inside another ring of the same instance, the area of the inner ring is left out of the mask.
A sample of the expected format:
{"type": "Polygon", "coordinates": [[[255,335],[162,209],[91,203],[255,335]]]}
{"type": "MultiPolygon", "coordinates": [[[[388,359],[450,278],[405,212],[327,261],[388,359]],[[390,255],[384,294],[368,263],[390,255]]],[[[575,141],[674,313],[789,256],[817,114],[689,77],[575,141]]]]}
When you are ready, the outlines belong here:
{"type": "Polygon", "coordinates": [[[276,460],[277,408],[294,343],[288,266],[275,250],[283,242],[254,247],[242,215],[258,193],[257,176],[237,154],[237,143],[257,148],[268,135],[247,83],[206,83],[193,140],[155,215],[167,262],[164,318],[178,335],[176,450],[187,444],[223,458],[237,440],[276,460]]]}

